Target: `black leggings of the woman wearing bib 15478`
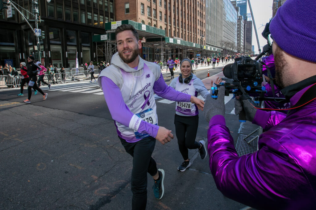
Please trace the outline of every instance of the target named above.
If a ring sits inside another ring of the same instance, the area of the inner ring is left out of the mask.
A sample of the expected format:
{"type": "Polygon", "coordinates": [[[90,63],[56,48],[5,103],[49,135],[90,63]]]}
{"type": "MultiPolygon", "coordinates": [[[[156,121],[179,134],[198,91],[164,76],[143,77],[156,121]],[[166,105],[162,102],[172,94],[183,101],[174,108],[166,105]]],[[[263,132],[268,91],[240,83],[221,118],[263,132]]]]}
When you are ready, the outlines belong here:
{"type": "Polygon", "coordinates": [[[198,115],[196,116],[180,116],[174,115],[174,125],[176,128],[176,136],[183,160],[189,159],[188,149],[198,149],[201,144],[195,141],[197,136],[198,115]]]}

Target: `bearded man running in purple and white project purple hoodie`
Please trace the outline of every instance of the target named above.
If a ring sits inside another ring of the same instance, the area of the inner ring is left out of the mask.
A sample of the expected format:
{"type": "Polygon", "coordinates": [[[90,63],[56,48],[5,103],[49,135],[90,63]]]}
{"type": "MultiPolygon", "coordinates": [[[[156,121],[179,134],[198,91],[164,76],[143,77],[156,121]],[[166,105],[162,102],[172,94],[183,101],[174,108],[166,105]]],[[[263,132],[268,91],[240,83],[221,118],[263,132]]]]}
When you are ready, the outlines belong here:
{"type": "Polygon", "coordinates": [[[132,209],[143,210],[147,204],[147,173],[154,179],[155,198],[161,199],[164,194],[164,170],[157,169],[151,157],[156,139],[166,144],[173,138],[170,130],[157,125],[154,91],[166,99],[191,101],[201,108],[204,102],[168,87],[159,67],[138,55],[142,42],[133,26],[118,26],[115,37],[118,52],[112,56],[109,71],[101,72],[98,83],[115,120],[119,139],[133,157],[132,209]]]}

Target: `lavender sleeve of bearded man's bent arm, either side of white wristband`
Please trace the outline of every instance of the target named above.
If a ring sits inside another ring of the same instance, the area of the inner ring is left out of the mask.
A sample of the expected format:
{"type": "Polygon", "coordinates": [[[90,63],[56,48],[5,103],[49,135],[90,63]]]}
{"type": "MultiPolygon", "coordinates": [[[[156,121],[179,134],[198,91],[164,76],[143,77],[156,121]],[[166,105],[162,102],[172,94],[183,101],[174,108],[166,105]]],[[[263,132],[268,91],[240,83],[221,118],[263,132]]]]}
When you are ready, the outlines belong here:
{"type": "MultiPolygon", "coordinates": [[[[109,108],[112,119],[116,122],[129,127],[132,116],[134,115],[126,106],[119,87],[107,77],[100,77],[106,105],[109,108]]],[[[159,126],[149,122],[142,122],[139,125],[139,133],[148,133],[152,137],[156,137],[159,126]]]]}

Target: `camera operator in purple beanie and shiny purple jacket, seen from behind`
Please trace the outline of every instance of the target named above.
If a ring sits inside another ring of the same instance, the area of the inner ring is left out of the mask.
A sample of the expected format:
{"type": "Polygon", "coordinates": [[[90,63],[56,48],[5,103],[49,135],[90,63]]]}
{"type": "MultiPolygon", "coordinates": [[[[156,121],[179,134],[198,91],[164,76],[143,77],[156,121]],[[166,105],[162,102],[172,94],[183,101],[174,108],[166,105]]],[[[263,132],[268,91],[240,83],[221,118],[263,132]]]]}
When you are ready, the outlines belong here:
{"type": "MultiPolygon", "coordinates": [[[[258,151],[238,157],[226,127],[224,87],[207,98],[210,170],[228,198],[256,209],[316,207],[316,1],[287,0],[270,24],[276,81],[290,99],[288,115],[243,101],[246,119],[265,130],[258,151]],[[306,21],[309,20],[309,21],[306,21]]],[[[235,109],[238,107],[235,107],[235,109]]]]}

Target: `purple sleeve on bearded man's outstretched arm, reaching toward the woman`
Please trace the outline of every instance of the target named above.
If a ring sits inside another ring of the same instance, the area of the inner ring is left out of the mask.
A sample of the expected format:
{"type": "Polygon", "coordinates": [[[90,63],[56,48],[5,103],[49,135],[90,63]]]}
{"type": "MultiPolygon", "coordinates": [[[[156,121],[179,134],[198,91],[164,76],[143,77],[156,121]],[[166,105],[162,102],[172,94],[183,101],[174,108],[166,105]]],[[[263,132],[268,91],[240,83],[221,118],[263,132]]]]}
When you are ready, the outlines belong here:
{"type": "Polygon", "coordinates": [[[165,80],[162,77],[162,74],[160,74],[160,77],[155,81],[154,92],[158,96],[171,101],[189,102],[191,100],[191,95],[181,93],[179,91],[176,91],[172,87],[167,86],[165,80]]]}

